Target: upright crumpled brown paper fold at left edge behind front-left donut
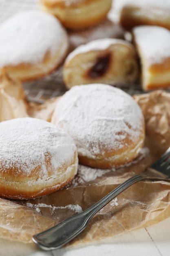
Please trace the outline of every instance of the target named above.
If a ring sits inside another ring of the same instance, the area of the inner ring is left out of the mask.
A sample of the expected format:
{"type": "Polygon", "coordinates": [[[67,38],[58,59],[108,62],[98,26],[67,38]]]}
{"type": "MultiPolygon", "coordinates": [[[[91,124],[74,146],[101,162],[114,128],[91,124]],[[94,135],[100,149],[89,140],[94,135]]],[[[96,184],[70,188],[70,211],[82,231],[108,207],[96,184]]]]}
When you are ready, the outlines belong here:
{"type": "Polygon", "coordinates": [[[3,68],[0,74],[0,122],[16,117],[28,117],[29,103],[22,84],[3,68]]]}

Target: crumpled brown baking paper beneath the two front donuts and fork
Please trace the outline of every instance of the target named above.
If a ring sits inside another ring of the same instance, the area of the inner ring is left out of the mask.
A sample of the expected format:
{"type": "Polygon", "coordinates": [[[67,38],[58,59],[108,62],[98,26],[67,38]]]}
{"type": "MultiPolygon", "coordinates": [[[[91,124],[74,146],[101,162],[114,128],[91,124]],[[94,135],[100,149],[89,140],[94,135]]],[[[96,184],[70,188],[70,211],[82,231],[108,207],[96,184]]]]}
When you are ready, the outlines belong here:
{"type": "MultiPolygon", "coordinates": [[[[159,158],[170,146],[170,94],[155,91],[134,98],[146,121],[145,144],[137,159],[117,170],[79,165],[76,177],[67,187],[42,198],[15,202],[0,199],[0,237],[29,243],[34,234],[87,209],[159,158]]],[[[50,121],[55,100],[30,106],[30,115],[50,121]]],[[[138,182],[100,210],[69,245],[117,236],[168,217],[170,183],[138,182]]]]}

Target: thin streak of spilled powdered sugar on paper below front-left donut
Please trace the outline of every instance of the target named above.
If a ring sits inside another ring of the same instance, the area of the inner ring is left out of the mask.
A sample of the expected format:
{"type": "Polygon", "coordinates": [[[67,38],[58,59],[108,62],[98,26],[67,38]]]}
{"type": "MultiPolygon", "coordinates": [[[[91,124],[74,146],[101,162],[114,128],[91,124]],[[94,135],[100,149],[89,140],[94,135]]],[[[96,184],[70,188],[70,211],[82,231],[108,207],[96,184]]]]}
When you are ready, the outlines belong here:
{"type": "Polygon", "coordinates": [[[68,204],[66,206],[52,206],[51,204],[43,204],[43,203],[39,203],[39,204],[26,203],[26,206],[35,209],[38,213],[41,211],[42,207],[51,208],[52,213],[56,209],[70,209],[72,211],[75,211],[75,213],[81,213],[83,211],[82,207],[79,206],[78,204],[68,204]]]}

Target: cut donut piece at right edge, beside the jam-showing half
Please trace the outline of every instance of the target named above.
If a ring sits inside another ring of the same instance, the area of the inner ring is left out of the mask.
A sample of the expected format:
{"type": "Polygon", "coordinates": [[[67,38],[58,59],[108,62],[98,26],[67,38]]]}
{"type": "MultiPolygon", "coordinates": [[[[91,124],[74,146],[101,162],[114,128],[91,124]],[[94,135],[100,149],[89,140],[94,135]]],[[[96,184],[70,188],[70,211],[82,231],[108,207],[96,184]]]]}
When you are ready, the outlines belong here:
{"type": "Polygon", "coordinates": [[[158,26],[138,26],[132,33],[141,60],[143,89],[170,87],[170,31],[158,26]]]}

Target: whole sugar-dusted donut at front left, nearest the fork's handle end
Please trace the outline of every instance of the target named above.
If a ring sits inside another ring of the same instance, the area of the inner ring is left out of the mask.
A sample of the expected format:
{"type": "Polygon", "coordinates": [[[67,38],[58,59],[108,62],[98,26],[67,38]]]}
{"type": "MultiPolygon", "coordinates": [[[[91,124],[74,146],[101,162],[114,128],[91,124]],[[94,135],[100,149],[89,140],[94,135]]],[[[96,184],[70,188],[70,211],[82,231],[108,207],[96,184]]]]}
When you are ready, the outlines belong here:
{"type": "Polygon", "coordinates": [[[1,122],[0,132],[0,196],[40,197],[77,173],[76,146],[61,128],[26,117],[1,122]]]}

